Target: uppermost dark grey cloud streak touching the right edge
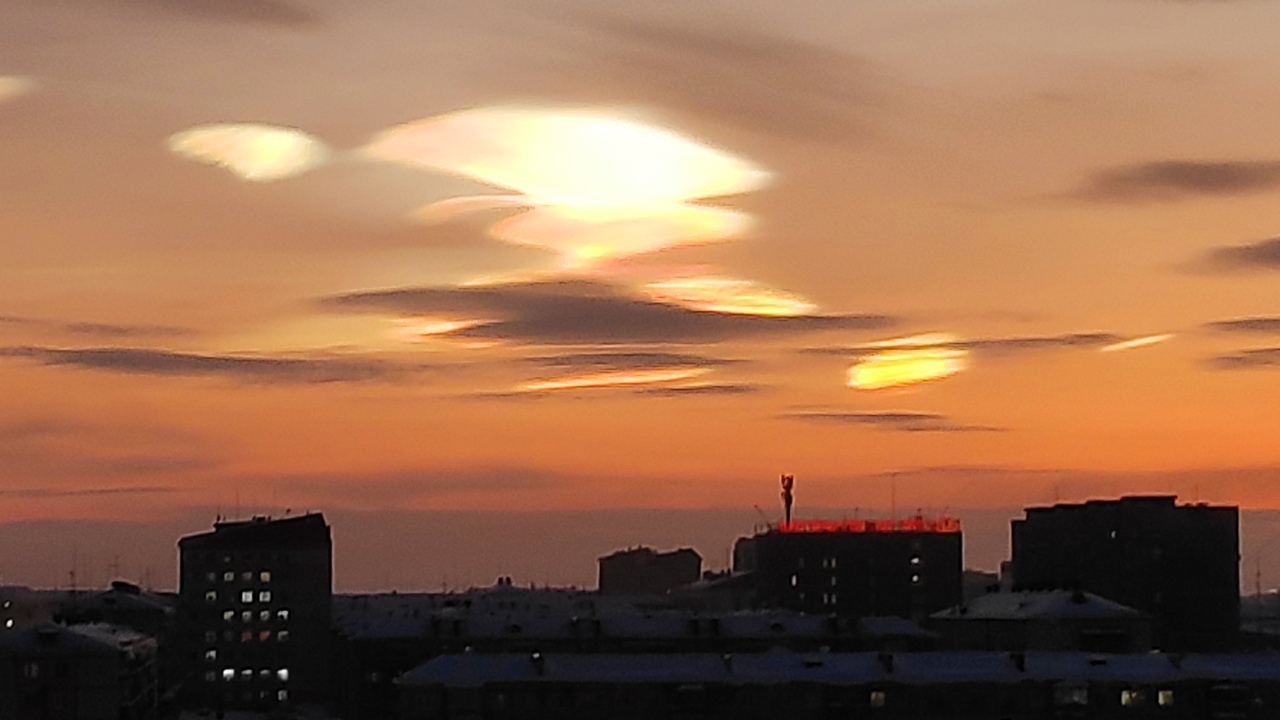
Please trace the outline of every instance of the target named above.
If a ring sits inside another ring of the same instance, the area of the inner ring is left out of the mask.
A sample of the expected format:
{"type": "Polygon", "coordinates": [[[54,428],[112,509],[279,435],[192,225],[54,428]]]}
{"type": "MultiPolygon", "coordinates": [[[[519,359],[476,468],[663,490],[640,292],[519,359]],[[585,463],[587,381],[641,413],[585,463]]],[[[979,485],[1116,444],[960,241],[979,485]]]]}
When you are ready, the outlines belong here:
{"type": "Polygon", "coordinates": [[[1084,200],[1135,202],[1280,188],[1276,160],[1157,160],[1107,168],[1076,191],[1084,200]]]}

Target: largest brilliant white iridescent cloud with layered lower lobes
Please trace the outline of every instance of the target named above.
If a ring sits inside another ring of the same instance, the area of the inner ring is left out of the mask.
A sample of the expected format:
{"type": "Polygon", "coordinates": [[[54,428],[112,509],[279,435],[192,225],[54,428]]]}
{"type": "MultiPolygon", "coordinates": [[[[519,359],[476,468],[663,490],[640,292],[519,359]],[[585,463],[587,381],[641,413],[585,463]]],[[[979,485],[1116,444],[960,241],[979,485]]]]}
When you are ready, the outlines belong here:
{"type": "Polygon", "coordinates": [[[518,192],[453,197],[419,215],[440,222],[527,206],[498,223],[494,236],[552,250],[564,269],[740,234],[748,215],[694,201],[756,190],[769,177],[669,131],[586,110],[451,113],[390,128],[364,154],[518,192]]]}

